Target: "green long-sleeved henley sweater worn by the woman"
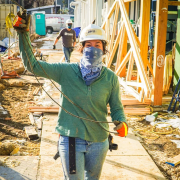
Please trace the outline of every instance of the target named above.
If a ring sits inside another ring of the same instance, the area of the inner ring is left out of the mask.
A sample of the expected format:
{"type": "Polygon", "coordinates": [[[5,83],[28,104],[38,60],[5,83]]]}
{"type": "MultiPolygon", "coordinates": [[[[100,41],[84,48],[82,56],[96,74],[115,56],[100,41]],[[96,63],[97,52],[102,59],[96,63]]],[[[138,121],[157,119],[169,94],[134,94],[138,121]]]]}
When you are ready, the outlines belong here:
{"type": "MultiPolygon", "coordinates": [[[[95,121],[107,121],[107,104],[110,105],[112,121],[118,120],[126,122],[123,106],[120,97],[120,86],[118,77],[110,69],[103,67],[100,77],[90,86],[85,84],[82,78],[78,63],[47,63],[36,61],[31,47],[27,43],[29,33],[19,33],[19,48],[24,66],[38,76],[49,78],[60,84],[61,91],[80,106],[95,121]],[[26,38],[24,37],[26,36],[26,38]],[[32,64],[33,71],[28,58],[32,64]]],[[[60,96],[60,102],[70,113],[83,118],[90,119],[78,107],[71,104],[64,96],[60,96]]],[[[127,123],[127,122],[126,122],[127,123]]],[[[59,109],[56,131],[64,136],[79,137],[81,139],[102,142],[108,137],[108,132],[101,127],[109,130],[107,123],[94,123],[73,117],[61,108],[59,109]]]]}

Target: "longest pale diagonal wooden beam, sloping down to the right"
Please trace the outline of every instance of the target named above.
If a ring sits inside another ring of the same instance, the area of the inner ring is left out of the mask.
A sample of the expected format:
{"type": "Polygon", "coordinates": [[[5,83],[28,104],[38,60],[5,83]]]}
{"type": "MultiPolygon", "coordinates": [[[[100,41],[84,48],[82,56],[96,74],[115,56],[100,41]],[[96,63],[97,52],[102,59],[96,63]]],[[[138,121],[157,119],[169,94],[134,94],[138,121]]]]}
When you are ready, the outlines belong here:
{"type": "Polygon", "coordinates": [[[121,15],[122,15],[125,27],[126,27],[127,34],[128,34],[128,38],[129,38],[129,41],[131,44],[131,48],[133,51],[133,55],[134,55],[134,58],[136,61],[137,69],[138,69],[138,72],[140,73],[140,77],[141,77],[142,83],[144,85],[143,88],[144,88],[146,96],[148,96],[149,92],[151,91],[150,84],[149,84],[148,77],[147,77],[147,74],[144,69],[144,65],[142,62],[140,52],[138,51],[138,48],[136,46],[136,40],[135,40],[134,33],[132,30],[132,25],[130,24],[128,14],[126,12],[126,8],[125,8],[123,0],[119,0],[119,5],[120,5],[120,9],[121,9],[121,15]]]}

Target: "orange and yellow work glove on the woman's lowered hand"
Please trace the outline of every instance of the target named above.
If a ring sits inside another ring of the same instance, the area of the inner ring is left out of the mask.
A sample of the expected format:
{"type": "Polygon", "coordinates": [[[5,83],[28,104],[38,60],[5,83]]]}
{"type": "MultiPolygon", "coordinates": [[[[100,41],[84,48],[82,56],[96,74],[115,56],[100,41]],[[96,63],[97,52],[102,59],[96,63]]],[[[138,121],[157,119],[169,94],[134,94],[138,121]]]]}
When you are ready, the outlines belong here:
{"type": "Polygon", "coordinates": [[[117,135],[121,137],[125,137],[128,134],[128,126],[125,122],[113,121],[115,124],[114,130],[117,131],[117,135]]]}

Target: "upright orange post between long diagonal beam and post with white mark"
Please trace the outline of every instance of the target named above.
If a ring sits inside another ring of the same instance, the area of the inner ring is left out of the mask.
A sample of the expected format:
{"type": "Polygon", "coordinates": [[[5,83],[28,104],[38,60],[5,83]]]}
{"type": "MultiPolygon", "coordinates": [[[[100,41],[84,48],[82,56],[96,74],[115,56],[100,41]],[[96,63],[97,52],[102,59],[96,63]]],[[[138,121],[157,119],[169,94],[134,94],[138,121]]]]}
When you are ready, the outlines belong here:
{"type": "Polygon", "coordinates": [[[141,1],[141,14],[140,14],[140,52],[144,63],[145,70],[147,70],[147,54],[148,54],[148,43],[149,43],[149,21],[150,21],[150,1],[141,1]]]}

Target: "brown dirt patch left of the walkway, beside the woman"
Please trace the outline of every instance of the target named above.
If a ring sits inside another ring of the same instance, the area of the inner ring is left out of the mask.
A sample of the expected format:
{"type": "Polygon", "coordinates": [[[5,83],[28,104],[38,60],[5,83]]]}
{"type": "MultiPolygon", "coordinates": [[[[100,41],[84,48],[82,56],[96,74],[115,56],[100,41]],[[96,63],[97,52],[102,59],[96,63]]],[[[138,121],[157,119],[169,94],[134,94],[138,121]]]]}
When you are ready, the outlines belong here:
{"type": "MultiPolygon", "coordinates": [[[[7,84],[7,80],[1,80],[7,84]]],[[[25,84],[22,87],[6,86],[0,93],[0,102],[7,114],[1,114],[0,142],[9,142],[20,146],[19,155],[38,156],[40,140],[30,141],[24,131],[31,125],[28,116],[28,102],[34,99],[33,91],[37,86],[25,84]],[[10,118],[6,120],[7,118],[10,118]]]]}

